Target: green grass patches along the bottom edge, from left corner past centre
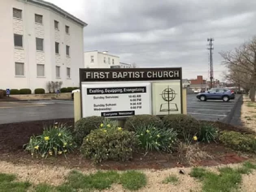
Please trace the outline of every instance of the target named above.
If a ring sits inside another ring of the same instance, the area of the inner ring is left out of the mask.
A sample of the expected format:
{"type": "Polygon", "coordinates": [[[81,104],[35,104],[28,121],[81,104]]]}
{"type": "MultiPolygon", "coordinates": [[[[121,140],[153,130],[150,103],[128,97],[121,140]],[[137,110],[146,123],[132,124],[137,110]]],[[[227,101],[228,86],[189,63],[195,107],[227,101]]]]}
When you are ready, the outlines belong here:
{"type": "MultiPolygon", "coordinates": [[[[30,188],[30,183],[14,182],[15,179],[15,175],[0,174],[0,192],[26,192],[30,188]]],[[[113,183],[122,184],[128,190],[138,190],[147,184],[147,178],[144,173],[138,171],[126,171],[122,174],[116,171],[98,171],[89,175],[71,171],[66,177],[66,182],[60,186],[40,183],[31,188],[33,192],[90,192],[94,189],[109,189],[113,183]]]]}

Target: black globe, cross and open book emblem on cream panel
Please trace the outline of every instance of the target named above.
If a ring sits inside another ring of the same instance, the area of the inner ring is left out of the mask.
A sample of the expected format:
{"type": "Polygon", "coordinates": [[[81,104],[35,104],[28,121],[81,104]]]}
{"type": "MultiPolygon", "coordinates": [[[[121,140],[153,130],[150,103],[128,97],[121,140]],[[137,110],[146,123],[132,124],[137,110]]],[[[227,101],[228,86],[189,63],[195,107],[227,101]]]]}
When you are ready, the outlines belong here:
{"type": "Polygon", "coordinates": [[[171,102],[172,100],[174,100],[176,94],[177,93],[173,89],[171,89],[169,85],[162,91],[160,95],[166,102],[160,105],[161,112],[168,111],[169,114],[169,111],[178,111],[177,104],[171,102]]]}

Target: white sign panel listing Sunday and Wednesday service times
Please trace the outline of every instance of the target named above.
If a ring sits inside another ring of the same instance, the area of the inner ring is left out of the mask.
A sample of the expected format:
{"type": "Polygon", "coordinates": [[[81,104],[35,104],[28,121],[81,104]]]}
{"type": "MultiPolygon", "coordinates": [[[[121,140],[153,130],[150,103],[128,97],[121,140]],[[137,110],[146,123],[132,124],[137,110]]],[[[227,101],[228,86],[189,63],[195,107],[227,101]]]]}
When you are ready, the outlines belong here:
{"type": "Polygon", "coordinates": [[[81,88],[83,117],[151,114],[150,83],[82,83],[81,88]]]}

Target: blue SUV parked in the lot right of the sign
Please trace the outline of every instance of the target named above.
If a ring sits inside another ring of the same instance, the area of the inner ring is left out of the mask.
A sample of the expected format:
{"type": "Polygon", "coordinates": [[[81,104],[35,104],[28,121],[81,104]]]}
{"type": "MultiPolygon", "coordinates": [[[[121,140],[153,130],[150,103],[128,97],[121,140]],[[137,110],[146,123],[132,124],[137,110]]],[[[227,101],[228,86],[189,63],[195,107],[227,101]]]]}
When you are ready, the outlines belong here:
{"type": "Polygon", "coordinates": [[[206,92],[198,93],[196,98],[201,101],[206,101],[208,99],[229,101],[230,99],[235,98],[235,94],[233,90],[224,88],[212,88],[206,92]]]}

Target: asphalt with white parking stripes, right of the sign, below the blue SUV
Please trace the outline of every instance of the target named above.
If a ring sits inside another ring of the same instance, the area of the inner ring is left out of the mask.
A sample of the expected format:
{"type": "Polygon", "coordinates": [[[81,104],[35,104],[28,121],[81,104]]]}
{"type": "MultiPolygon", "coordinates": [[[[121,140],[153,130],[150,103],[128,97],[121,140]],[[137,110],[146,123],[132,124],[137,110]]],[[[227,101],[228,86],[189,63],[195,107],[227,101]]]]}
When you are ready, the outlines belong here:
{"type": "Polygon", "coordinates": [[[223,102],[222,100],[198,100],[196,94],[187,95],[187,113],[198,120],[217,121],[225,118],[230,113],[239,95],[234,100],[223,102]]]}

